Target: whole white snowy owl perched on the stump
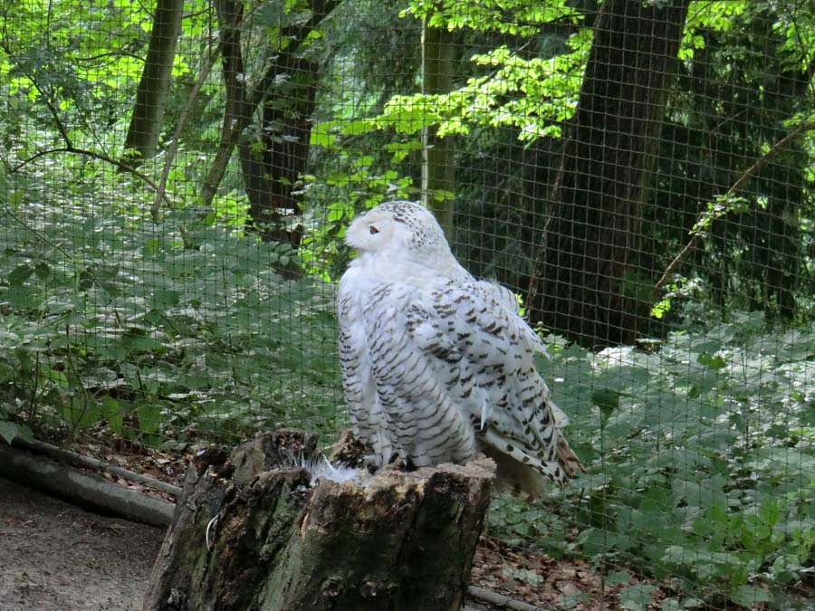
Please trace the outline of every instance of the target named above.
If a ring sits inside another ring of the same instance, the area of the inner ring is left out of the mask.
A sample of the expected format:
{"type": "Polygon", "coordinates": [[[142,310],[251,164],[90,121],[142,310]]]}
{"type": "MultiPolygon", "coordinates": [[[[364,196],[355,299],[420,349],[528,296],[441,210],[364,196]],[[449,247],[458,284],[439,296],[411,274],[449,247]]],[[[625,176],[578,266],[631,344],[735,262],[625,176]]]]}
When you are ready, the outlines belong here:
{"type": "Polygon", "coordinates": [[[541,339],[512,291],[455,260],[426,208],[379,205],[345,242],[357,257],[340,280],[340,365],[353,432],[373,463],[465,463],[483,452],[529,497],[581,469],[534,367],[541,339]]]}

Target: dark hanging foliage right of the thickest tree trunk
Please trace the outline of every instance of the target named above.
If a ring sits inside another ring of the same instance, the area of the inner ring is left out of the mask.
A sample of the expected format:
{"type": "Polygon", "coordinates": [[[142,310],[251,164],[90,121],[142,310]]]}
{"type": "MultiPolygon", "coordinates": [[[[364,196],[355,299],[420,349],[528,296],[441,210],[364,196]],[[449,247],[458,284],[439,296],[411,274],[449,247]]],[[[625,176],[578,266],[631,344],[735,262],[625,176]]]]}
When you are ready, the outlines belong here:
{"type": "Polygon", "coordinates": [[[811,48],[801,45],[813,25],[808,3],[690,7],[663,130],[664,147],[686,155],[678,172],[674,161],[659,162],[642,243],[654,253],[646,267],[664,270],[688,243],[685,232],[695,234],[679,278],[694,284],[693,299],[673,300],[674,312],[705,301],[812,320],[813,149],[809,138],[785,138],[807,125],[815,100],[803,68],[811,48]],[[724,195],[734,186],[737,197],[724,195]]]}

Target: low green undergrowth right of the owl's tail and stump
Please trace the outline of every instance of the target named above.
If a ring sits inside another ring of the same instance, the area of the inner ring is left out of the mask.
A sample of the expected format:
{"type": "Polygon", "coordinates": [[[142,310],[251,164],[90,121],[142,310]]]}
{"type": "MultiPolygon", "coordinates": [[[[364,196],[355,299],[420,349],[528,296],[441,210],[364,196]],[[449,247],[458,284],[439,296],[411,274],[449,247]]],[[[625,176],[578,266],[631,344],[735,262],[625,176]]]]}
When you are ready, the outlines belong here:
{"type": "MultiPolygon", "coordinates": [[[[815,560],[815,336],[737,314],[651,347],[555,344],[542,374],[588,473],[540,507],[504,499],[494,528],[670,579],[672,608],[723,592],[803,608],[785,587],[815,560]]],[[[620,594],[624,608],[649,601],[620,594]]]]}

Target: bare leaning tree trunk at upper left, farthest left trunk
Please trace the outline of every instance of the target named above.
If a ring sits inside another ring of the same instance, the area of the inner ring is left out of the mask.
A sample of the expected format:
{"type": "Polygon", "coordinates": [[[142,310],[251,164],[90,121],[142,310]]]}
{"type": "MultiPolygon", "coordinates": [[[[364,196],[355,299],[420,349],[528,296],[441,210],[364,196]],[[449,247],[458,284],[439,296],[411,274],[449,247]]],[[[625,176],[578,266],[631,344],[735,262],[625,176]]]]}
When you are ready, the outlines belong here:
{"type": "Polygon", "coordinates": [[[183,0],[158,0],[147,58],[136,91],[136,105],[124,143],[131,165],[138,166],[156,156],[183,9],[183,0]]]}

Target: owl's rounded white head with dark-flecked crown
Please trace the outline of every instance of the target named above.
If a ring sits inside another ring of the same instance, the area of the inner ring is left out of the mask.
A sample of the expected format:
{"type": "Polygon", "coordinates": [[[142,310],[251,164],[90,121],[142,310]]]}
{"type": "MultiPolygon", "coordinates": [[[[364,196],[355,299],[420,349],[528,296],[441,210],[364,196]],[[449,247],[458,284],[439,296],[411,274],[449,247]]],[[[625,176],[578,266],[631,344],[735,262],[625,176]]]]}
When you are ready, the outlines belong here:
{"type": "Polygon", "coordinates": [[[345,243],[361,253],[437,254],[450,252],[436,217],[414,202],[388,202],[355,219],[345,243]]]}

